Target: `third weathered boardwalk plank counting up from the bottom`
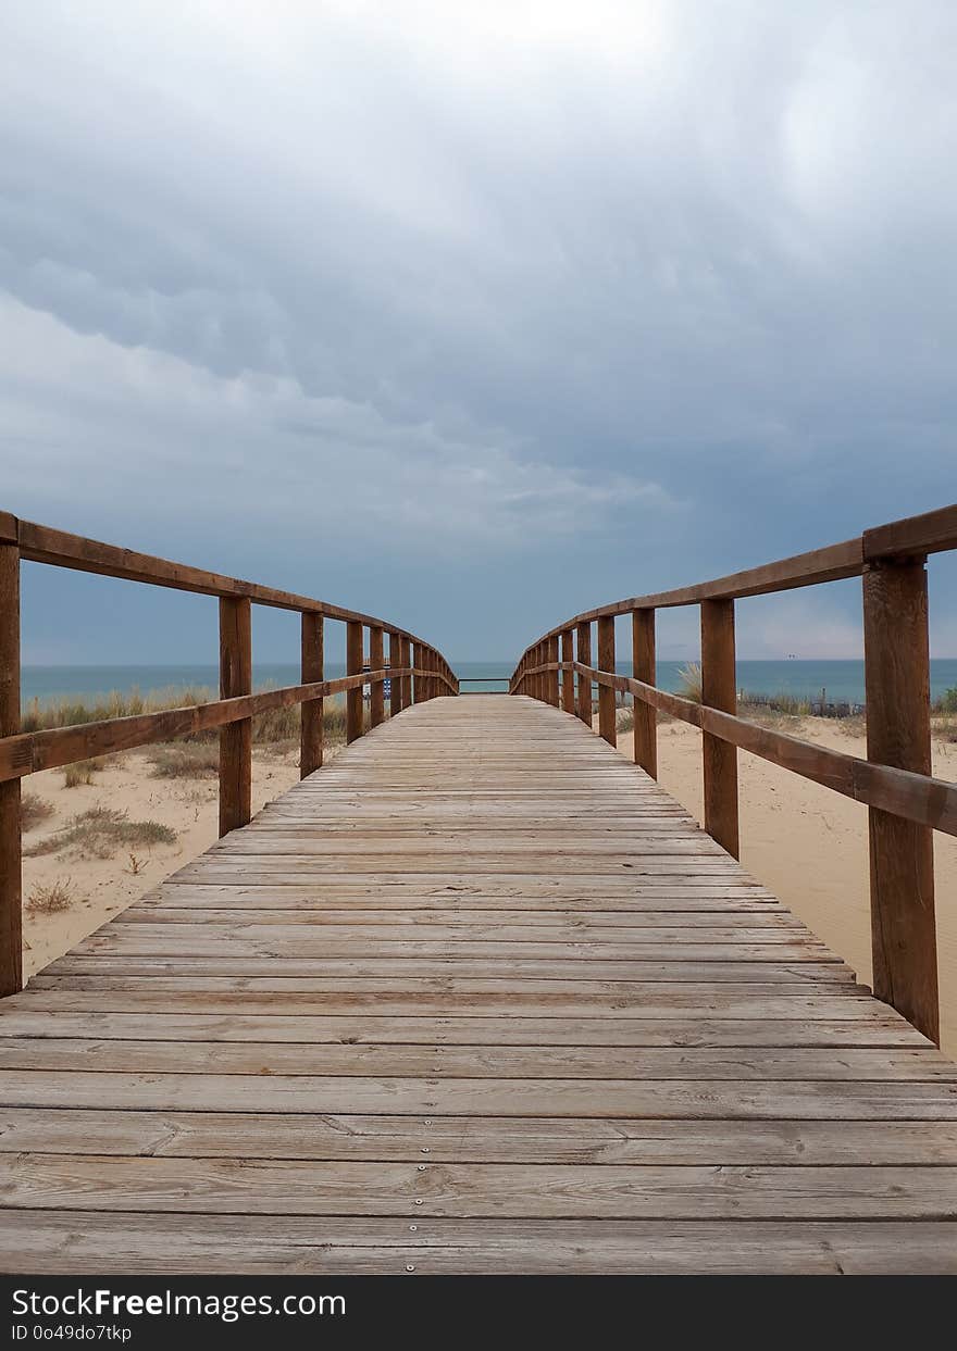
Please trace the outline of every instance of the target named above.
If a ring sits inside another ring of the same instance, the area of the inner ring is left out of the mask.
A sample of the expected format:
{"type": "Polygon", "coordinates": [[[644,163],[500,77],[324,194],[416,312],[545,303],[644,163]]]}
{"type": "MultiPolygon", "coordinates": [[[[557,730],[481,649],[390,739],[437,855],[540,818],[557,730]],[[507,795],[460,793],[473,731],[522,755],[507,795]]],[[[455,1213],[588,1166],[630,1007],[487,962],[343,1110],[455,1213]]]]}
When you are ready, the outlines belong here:
{"type": "Polygon", "coordinates": [[[0,1152],[433,1163],[948,1163],[949,1121],[695,1121],[0,1109],[0,1152]]]}

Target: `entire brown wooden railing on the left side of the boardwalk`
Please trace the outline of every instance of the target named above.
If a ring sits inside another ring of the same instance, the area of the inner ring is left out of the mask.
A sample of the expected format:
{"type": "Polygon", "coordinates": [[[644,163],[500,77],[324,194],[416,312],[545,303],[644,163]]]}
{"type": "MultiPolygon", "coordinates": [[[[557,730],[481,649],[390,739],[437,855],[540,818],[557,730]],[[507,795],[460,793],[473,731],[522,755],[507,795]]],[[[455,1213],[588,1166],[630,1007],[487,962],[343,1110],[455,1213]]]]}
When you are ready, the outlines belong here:
{"type": "Polygon", "coordinates": [[[131,750],[174,736],[219,728],[219,832],[245,825],[251,815],[253,716],[301,704],[300,773],[323,759],[323,700],[346,694],[346,739],[362,735],[362,686],[370,686],[369,724],[438,694],[457,694],[458,682],[442,654],[407,630],[326,601],[258,586],[235,577],[116,549],[95,539],[18,520],[0,512],[0,994],[22,988],[20,780],[111,751],[131,750]],[[135,717],[111,717],[76,727],[20,732],[20,561],[51,563],[127,581],[219,597],[220,698],[135,717]],[[251,605],[297,611],[301,616],[301,684],[253,693],[251,605]],[[323,624],[346,626],[346,676],[324,680],[323,624]],[[364,670],[365,631],[369,670],[364,670]],[[385,635],[389,638],[388,662],[385,635]]]}

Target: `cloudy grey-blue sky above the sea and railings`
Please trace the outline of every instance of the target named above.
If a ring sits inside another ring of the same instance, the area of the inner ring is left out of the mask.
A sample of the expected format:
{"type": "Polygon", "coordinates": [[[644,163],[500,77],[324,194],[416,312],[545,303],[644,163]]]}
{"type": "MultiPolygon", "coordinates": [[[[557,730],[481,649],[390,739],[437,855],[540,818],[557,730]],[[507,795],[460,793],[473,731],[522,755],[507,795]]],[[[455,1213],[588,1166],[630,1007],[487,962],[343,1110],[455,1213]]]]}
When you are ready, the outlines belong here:
{"type": "MultiPolygon", "coordinates": [[[[0,26],[5,509],[504,659],[957,497],[952,0],[0,26]]],[[[28,661],[215,653],[210,601],[26,573],[28,661]]],[[[739,651],[856,655],[858,605],[745,603],[739,651]]]]}

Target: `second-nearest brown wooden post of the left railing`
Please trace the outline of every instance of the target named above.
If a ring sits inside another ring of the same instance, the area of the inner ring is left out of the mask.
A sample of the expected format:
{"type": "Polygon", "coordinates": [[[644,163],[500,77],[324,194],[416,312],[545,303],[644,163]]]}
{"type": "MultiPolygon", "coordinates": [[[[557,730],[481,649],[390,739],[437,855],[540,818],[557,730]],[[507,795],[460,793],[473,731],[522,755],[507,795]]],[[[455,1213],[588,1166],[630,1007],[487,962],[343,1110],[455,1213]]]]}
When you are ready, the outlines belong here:
{"type": "MultiPolygon", "coordinates": [[[[253,693],[253,616],[247,596],[219,601],[219,697],[253,693]]],[[[246,825],[253,815],[253,719],[219,732],[219,834],[246,825]]]]}

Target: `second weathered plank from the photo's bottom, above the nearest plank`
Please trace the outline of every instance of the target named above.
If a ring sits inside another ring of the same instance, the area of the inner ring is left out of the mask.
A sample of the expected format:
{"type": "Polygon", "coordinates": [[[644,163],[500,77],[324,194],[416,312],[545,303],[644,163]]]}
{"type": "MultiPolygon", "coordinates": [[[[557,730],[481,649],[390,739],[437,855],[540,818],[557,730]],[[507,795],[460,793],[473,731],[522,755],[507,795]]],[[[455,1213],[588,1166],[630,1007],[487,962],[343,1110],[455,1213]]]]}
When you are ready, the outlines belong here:
{"type": "Polygon", "coordinates": [[[7,1205],[219,1215],[957,1219],[957,1167],[347,1163],[0,1154],[7,1205]]]}

